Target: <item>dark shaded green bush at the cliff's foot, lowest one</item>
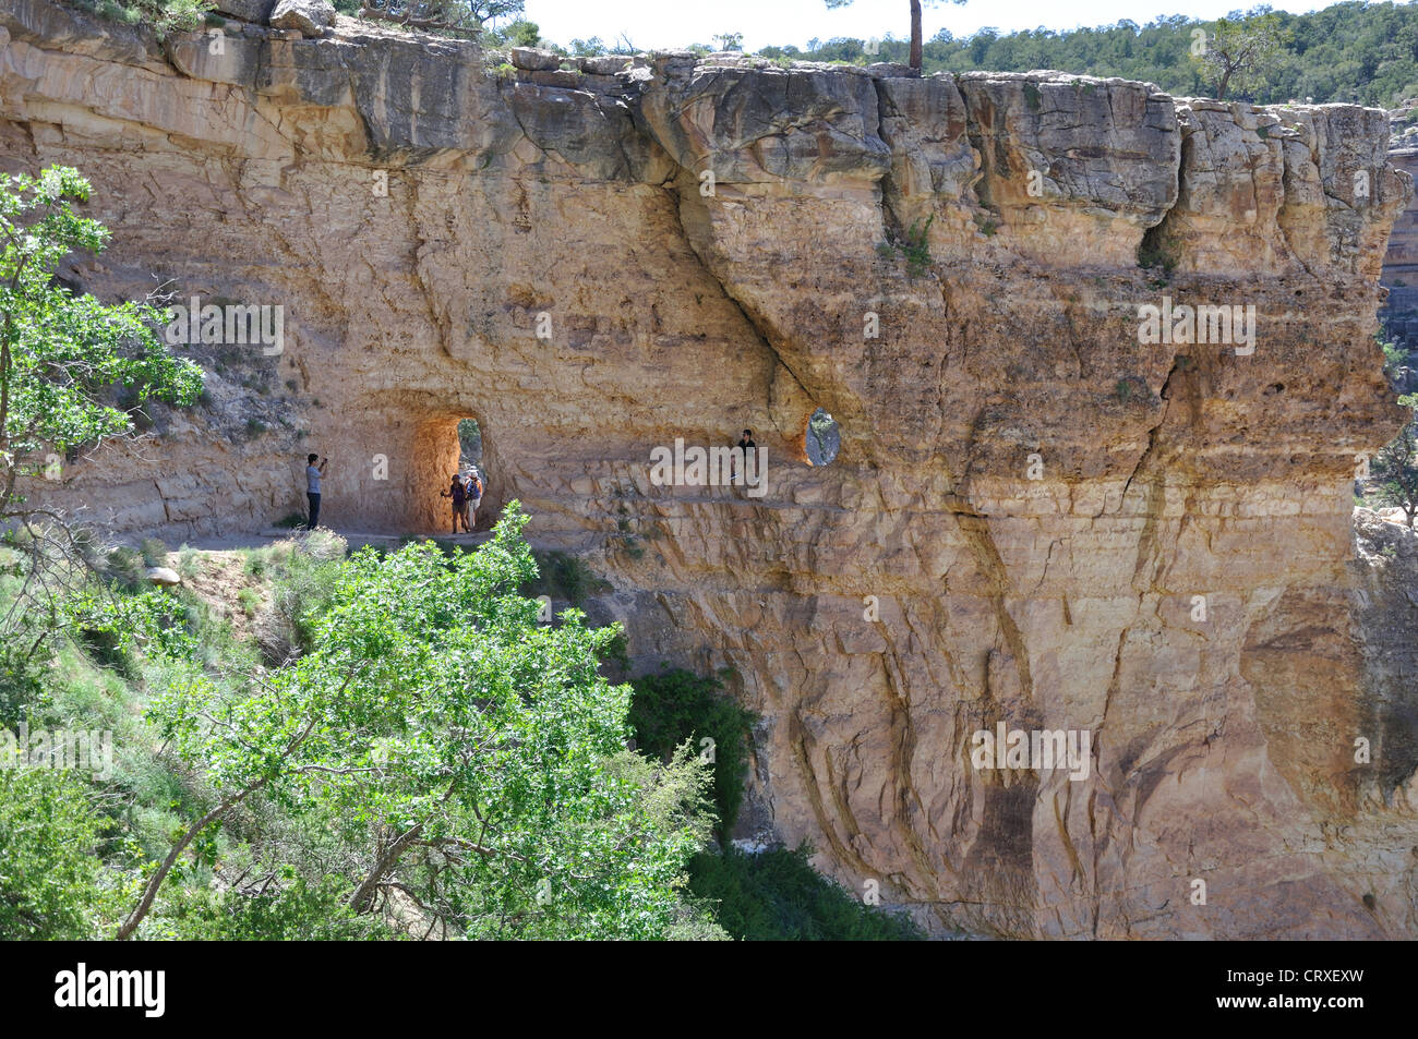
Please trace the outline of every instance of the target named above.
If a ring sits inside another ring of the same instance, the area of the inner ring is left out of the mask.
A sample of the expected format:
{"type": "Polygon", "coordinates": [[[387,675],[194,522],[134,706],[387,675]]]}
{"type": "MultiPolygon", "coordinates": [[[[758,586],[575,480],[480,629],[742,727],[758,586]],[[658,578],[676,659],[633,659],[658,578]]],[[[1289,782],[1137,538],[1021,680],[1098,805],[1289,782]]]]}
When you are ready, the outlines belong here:
{"type": "Polygon", "coordinates": [[[808,849],[696,855],[689,887],[715,904],[719,926],[740,941],[920,940],[906,917],[854,899],[808,865],[808,849]]]}

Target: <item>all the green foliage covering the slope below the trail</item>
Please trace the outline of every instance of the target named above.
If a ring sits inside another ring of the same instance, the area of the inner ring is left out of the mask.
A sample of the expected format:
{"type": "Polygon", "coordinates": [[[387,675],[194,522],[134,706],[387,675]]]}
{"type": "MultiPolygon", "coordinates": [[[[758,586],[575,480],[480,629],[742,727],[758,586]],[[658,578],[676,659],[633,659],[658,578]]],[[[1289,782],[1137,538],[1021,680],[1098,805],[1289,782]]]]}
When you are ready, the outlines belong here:
{"type": "MultiPolygon", "coordinates": [[[[525,520],[516,505],[509,516],[515,529],[499,527],[476,558],[414,544],[346,561],[343,543],[320,534],[252,553],[272,595],[305,588],[294,598],[306,652],[275,669],[258,669],[189,590],[109,581],[77,590],[54,617],[27,612],[50,638],[33,656],[0,642],[4,720],[111,730],[116,754],[112,778],[88,777],[101,808],[77,819],[86,828],[65,822],[82,798],[24,787],[10,797],[18,807],[0,805],[0,919],[21,906],[34,937],[112,934],[146,877],[153,900],[133,921],[145,938],[435,927],[725,938],[685,887],[712,825],[710,770],[688,744],[665,761],[625,748],[630,687],[596,678],[601,656],[624,656],[624,636],[587,631],[574,611],[554,629],[535,624],[537,604],[513,591],[535,568],[525,520]],[[264,785],[235,802],[252,777],[264,785]],[[223,805],[216,824],[194,826],[223,805]],[[21,848],[11,816],[50,818],[72,839],[26,833],[21,848]],[[174,842],[173,866],[155,872],[174,842]]],[[[183,556],[180,567],[200,566],[183,556]]],[[[0,556],[0,610],[23,564],[0,556]]],[[[7,924],[0,934],[13,937],[7,924]]]]}

